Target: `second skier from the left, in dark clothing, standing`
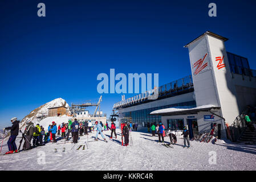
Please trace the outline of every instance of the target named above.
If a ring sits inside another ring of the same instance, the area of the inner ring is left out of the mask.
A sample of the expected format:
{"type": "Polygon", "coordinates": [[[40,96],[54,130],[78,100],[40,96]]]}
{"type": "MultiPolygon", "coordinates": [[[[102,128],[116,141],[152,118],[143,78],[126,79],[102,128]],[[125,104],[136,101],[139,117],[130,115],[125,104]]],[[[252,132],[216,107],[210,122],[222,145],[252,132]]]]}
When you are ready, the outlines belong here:
{"type": "Polygon", "coordinates": [[[34,123],[32,123],[31,121],[27,121],[26,124],[27,125],[26,125],[25,131],[23,133],[23,137],[25,139],[25,142],[23,144],[22,149],[23,150],[30,150],[30,149],[32,149],[31,139],[32,139],[34,131],[35,131],[35,126],[34,126],[34,123]]]}

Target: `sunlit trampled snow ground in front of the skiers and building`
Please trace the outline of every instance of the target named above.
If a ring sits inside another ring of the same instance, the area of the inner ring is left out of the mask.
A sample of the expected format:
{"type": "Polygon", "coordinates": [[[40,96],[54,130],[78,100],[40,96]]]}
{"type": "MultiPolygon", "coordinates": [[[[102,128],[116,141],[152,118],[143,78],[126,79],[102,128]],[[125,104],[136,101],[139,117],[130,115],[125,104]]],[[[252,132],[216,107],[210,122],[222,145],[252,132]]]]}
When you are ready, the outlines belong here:
{"type": "MultiPolygon", "coordinates": [[[[1,155],[0,170],[255,170],[256,146],[246,144],[217,144],[192,141],[190,148],[181,146],[178,138],[174,148],[166,148],[157,143],[157,137],[146,132],[133,131],[133,146],[121,146],[120,130],[117,139],[111,140],[110,131],[104,131],[108,143],[95,132],[80,137],[79,143],[47,143],[18,154],[1,155]],[[85,144],[86,150],[76,150],[85,144]],[[88,146],[88,149],[87,149],[88,146]],[[62,152],[63,147],[66,151],[62,152]],[[58,152],[54,152],[54,148],[58,152]],[[210,152],[210,153],[209,153],[210,152]],[[216,164],[214,163],[216,152],[216,164]],[[210,154],[210,155],[209,155],[210,154]],[[209,163],[210,161],[210,163],[209,163]]],[[[165,138],[169,142],[169,138],[165,138]]],[[[17,141],[17,146],[19,142],[17,141]]],[[[7,151],[6,141],[2,153],[7,151]]]]}

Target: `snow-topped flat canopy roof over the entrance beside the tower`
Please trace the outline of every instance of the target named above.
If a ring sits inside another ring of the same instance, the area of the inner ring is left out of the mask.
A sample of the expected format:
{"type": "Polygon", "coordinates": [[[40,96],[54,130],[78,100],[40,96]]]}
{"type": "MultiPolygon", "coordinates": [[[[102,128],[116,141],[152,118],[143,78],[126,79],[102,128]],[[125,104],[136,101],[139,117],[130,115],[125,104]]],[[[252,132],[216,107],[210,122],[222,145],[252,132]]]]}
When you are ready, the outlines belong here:
{"type": "Polygon", "coordinates": [[[220,109],[220,107],[214,106],[214,105],[203,105],[203,106],[198,106],[198,107],[189,107],[189,106],[180,106],[180,107],[170,107],[166,109],[159,109],[152,111],[150,114],[157,114],[157,115],[162,115],[162,114],[174,114],[174,113],[186,113],[190,111],[202,111],[206,109],[220,109]]]}

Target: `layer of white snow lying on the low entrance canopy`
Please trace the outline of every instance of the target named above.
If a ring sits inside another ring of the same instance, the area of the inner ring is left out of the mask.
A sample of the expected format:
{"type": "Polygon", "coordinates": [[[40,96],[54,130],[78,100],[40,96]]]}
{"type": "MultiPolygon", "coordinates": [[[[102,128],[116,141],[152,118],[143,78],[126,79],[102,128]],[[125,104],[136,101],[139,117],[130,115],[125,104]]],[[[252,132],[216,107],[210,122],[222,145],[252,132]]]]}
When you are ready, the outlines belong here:
{"type": "Polygon", "coordinates": [[[216,107],[216,106],[214,105],[203,105],[198,107],[178,106],[178,107],[170,107],[166,109],[155,110],[155,111],[152,111],[150,114],[172,113],[177,111],[189,111],[189,110],[196,110],[196,109],[208,109],[212,107],[216,107]]]}

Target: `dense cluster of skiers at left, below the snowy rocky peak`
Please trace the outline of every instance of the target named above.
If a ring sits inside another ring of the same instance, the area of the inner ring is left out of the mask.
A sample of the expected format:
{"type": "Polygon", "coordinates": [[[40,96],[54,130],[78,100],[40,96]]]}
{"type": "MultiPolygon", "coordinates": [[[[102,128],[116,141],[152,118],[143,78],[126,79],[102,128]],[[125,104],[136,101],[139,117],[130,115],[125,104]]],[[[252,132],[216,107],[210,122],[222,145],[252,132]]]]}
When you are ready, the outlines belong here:
{"type": "Polygon", "coordinates": [[[60,138],[64,139],[66,137],[66,140],[70,139],[69,136],[71,133],[72,143],[78,143],[78,133],[80,133],[81,135],[84,132],[84,134],[88,135],[88,129],[90,133],[92,132],[91,121],[89,123],[87,121],[78,123],[77,119],[75,119],[74,122],[69,120],[68,123],[62,123],[62,125],[59,125],[58,128],[56,126],[56,123],[53,121],[52,124],[48,126],[47,132],[44,131],[44,128],[39,124],[34,126],[34,123],[32,123],[32,121],[27,121],[25,131],[24,133],[22,133],[22,140],[20,141],[19,148],[17,148],[15,140],[19,134],[19,121],[17,118],[14,117],[11,118],[11,123],[13,124],[12,126],[3,129],[4,133],[5,130],[10,130],[10,138],[7,142],[9,151],[6,152],[6,154],[13,154],[19,152],[23,139],[25,142],[23,144],[22,150],[31,150],[34,147],[43,146],[47,142],[56,143],[56,137],[59,137],[60,131],[62,133],[60,138]]]}

